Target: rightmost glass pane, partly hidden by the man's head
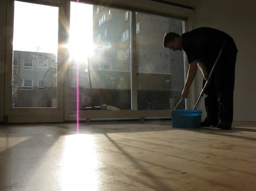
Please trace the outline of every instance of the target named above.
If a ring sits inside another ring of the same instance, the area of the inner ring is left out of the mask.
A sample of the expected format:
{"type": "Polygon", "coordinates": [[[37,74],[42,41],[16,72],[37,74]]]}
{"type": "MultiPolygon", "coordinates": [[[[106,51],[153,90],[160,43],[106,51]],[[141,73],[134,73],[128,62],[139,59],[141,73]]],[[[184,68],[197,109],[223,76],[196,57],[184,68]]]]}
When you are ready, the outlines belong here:
{"type": "MultiPolygon", "coordinates": [[[[184,86],[183,51],[162,46],[166,32],[183,33],[182,21],[136,13],[138,110],[170,110],[184,86]]],[[[185,101],[177,109],[185,109],[185,101]]]]}

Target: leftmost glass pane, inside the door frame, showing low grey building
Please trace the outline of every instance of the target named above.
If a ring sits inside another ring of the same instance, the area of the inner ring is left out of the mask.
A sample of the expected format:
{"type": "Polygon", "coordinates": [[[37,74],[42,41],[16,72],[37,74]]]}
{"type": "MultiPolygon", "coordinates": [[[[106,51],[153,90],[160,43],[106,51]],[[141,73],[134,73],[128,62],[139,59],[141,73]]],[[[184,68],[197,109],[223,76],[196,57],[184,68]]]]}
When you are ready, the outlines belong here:
{"type": "Polygon", "coordinates": [[[15,1],[12,107],[57,107],[59,8],[15,1]]]}

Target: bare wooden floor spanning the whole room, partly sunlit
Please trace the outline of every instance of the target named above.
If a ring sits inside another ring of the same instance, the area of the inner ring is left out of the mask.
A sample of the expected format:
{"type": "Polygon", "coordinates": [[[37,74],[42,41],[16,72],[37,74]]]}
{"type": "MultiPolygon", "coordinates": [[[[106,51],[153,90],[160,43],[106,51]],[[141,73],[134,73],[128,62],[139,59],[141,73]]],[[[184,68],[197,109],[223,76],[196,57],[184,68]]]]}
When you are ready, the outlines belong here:
{"type": "Polygon", "coordinates": [[[0,126],[1,191],[253,191],[256,122],[0,126]]]}

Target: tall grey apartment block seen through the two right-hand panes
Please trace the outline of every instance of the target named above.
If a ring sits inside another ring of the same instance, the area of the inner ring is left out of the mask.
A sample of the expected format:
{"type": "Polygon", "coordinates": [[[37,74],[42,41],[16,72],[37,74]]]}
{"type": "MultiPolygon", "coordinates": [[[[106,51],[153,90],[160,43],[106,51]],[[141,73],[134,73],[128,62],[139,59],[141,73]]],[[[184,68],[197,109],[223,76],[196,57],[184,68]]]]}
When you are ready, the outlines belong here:
{"type": "MultiPolygon", "coordinates": [[[[91,59],[93,69],[131,71],[130,20],[129,11],[93,7],[93,41],[97,46],[91,59]]],[[[136,13],[136,65],[138,75],[170,74],[171,90],[179,95],[184,86],[184,55],[162,47],[169,31],[182,34],[182,21],[136,13]]]]}

